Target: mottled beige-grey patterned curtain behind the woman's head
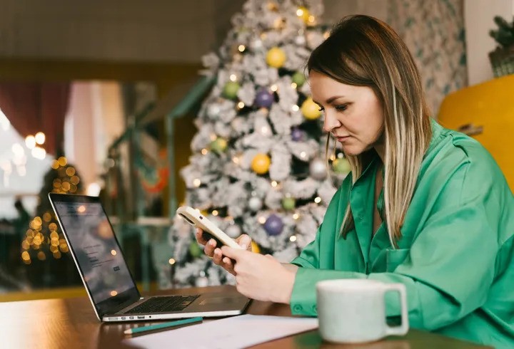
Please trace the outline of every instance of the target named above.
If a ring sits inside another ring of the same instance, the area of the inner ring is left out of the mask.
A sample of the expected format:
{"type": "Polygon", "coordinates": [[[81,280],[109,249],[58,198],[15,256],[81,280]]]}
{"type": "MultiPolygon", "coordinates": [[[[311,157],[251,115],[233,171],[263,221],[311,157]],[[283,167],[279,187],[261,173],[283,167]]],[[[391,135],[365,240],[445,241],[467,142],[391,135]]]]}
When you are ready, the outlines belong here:
{"type": "Polygon", "coordinates": [[[388,23],[413,53],[437,116],[445,95],[468,85],[463,0],[389,0],[388,23]]]}

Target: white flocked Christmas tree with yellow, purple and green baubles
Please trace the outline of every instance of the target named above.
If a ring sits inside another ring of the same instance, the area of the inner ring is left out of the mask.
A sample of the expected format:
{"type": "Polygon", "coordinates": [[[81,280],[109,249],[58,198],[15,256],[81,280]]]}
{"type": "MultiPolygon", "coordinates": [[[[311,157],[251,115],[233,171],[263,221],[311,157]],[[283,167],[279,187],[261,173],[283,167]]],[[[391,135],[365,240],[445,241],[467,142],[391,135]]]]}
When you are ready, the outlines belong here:
{"type": "MultiPolygon", "coordinates": [[[[223,46],[203,58],[203,73],[216,85],[196,119],[190,164],[181,170],[184,204],[233,238],[248,234],[253,251],[284,262],[314,239],[335,185],[349,171],[334,149],[328,175],[322,115],[306,83],[308,56],[328,36],[317,24],[322,11],[318,0],[249,0],[233,16],[223,46]]],[[[173,280],[161,286],[231,283],[193,233],[175,219],[173,280]]]]}

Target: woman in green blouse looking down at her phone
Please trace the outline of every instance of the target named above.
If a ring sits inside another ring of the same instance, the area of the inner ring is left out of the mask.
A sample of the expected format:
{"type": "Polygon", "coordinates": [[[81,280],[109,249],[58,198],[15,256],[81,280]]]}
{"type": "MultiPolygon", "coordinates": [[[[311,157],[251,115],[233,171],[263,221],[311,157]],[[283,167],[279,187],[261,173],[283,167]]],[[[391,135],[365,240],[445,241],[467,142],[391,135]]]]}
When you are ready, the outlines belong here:
{"type": "MultiPolygon", "coordinates": [[[[478,142],[430,119],[408,48],[351,16],[308,61],[323,128],[351,163],[316,239],[291,264],[197,240],[251,298],[316,316],[316,282],[403,283],[412,327],[514,348],[514,198],[478,142]],[[235,264],[231,262],[235,261],[235,264]]],[[[238,239],[249,249],[251,239],[238,239]]],[[[386,298],[388,316],[398,299],[386,298]]]]}

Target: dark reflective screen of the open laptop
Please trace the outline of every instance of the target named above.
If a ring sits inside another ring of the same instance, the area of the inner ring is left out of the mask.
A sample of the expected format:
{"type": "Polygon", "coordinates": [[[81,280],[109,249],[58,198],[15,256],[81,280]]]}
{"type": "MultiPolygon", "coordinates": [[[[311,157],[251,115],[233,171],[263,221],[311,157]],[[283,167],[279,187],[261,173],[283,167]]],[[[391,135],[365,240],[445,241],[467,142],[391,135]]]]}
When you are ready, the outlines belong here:
{"type": "Polygon", "coordinates": [[[136,287],[101,204],[55,202],[55,209],[95,303],[136,287]]]}

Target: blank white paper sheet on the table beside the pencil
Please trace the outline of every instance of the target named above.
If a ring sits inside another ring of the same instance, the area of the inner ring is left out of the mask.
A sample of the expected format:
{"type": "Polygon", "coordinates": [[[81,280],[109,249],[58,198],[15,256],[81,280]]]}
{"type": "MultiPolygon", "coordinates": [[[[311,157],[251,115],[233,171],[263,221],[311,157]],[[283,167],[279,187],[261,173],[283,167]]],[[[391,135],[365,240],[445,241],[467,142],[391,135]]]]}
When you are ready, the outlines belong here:
{"type": "Polygon", "coordinates": [[[241,315],[176,330],[126,338],[140,348],[231,349],[287,337],[318,328],[317,318],[241,315]]]}

